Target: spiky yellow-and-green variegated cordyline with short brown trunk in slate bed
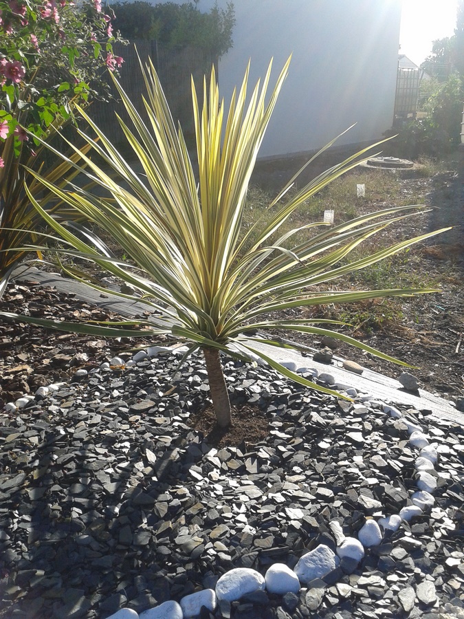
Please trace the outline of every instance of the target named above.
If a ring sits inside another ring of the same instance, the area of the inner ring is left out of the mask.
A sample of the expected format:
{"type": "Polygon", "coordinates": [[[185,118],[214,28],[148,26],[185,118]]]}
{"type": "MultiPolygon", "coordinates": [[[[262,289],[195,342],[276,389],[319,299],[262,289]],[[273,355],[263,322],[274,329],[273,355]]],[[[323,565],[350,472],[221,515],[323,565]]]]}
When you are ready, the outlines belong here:
{"type": "MultiPolygon", "coordinates": [[[[321,284],[329,284],[335,278],[376,263],[436,234],[432,232],[402,241],[368,257],[346,261],[351,250],[362,241],[393,222],[410,217],[422,209],[421,206],[388,208],[335,227],[307,224],[278,237],[279,228],[302,202],[342,173],[353,169],[365,151],[322,173],[285,201],[287,189],[294,182],[292,179],[269,204],[264,224],[261,226],[258,222],[258,226],[244,232],[242,219],[248,182],[287,75],[288,64],[289,61],[267,103],[265,96],[271,65],[263,85],[260,87],[258,82],[248,104],[247,70],[241,89],[232,96],[227,116],[219,99],[214,69],[209,93],[205,80],[202,111],[199,110],[195,86],[192,85],[198,182],[184,137],[181,130],[175,128],[153,65],[150,63],[146,70],[142,68],[148,94],[145,106],[151,129],[144,124],[129,96],[115,80],[135,132],[121,120],[120,124],[142,165],[146,175],[144,179],[133,171],[83,111],[82,116],[91,124],[100,141],[96,144],[92,138],[79,133],[106,164],[103,169],[82,154],[82,160],[87,164],[84,173],[89,179],[96,180],[109,193],[112,201],[77,186],[63,190],[36,173],[34,177],[78,214],[111,235],[136,266],[111,257],[101,241],[93,238],[90,232],[85,240],[81,235],[74,235],[47,214],[32,193],[30,198],[47,224],[58,233],[60,240],[67,243],[66,254],[92,261],[120,277],[142,292],[141,301],[158,313],[153,318],[136,323],[104,323],[105,326],[102,326],[103,323],[45,321],[29,316],[16,318],[46,327],[100,336],[168,334],[188,344],[185,357],[197,349],[203,350],[217,424],[223,428],[231,424],[231,410],[221,367],[221,352],[239,359],[247,359],[247,352],[259,354],[284,376],[325,393],[335,393],[305,380],[258,351],[257,343],[283,346],[272,335],[267,336],[267,332],[273,329],[330,335],[384,359],[399,362],[353,338],[318,325],[320,322],[334,321],[269,318],[291,307],[434,292],[421,289],[315,292],[312,288],[317,285],[319,289],[321,284]],[[119,182],[111,180],[106,169],[117,173],[119,182]],[[296,232],[313,226],[322,226],[322,231],[291,250],[284,246],[296,232]],[[264,335],[256,335],[260,333],[264,335]]],[[[94,287],[104,290],[97,285],[94,287]]],[[[2,314],[14,316],[7,312],[2,314]]]]}

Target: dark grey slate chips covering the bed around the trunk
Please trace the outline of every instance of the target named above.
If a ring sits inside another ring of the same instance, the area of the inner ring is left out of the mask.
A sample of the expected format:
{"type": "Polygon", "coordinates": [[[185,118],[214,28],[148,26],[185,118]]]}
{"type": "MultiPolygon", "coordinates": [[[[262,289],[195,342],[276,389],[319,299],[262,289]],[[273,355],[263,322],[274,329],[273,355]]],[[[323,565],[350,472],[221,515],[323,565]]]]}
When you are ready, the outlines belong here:
{"type": "MultiPolygon", "coordinates": [[[[200,421],[199,356],[180,371],[173,354],[100,369],[110,353],[104,343],[87,376],[73,380],[76,367],[64,366],[53,374],[66,379],[58,391],[0,412],[0,616],[140,612],[214,587],[232,567],[294,567],[320,543],[335,549],[334,521],[356,536],[366,519],[411,504],[418,452],[381,405],[349,405],[224,359],[236,411],[258,426],[232,446],[209,435],[208,413],[200,421]]],[[[214,617],[459,616],[464,428],[401,412],[437,444],[434,508],[299,596],[259,592],[214,617]]]]}

